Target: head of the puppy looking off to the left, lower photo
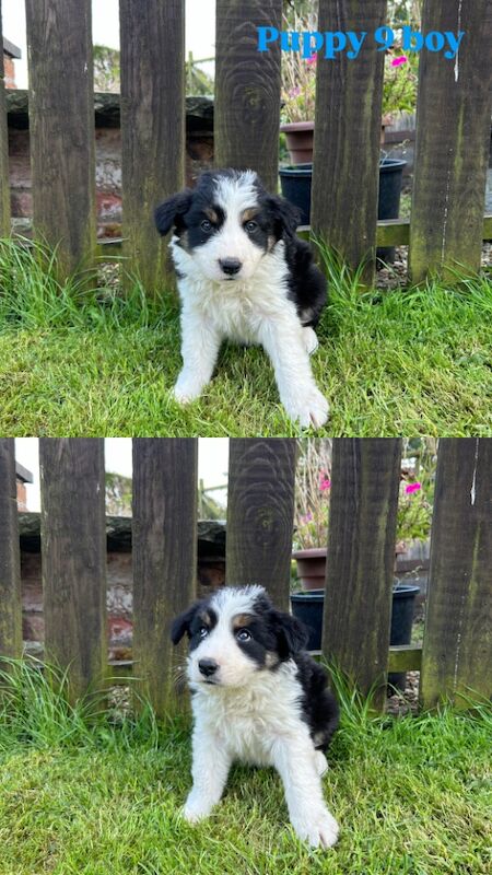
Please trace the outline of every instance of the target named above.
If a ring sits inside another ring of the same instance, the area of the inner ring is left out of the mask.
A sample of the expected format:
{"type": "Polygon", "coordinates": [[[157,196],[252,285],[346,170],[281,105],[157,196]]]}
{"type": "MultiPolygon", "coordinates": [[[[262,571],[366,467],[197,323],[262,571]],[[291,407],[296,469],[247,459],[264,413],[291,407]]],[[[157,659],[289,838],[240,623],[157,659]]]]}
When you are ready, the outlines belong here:
{"type": "Polygon", "coordinates": [[[272,607],[262,586],[224,587],[177,617],[173,643],[189,639],[192,687],[247,686],[257,672],[274,670],[306,646],[306,628],[272,607]]]}

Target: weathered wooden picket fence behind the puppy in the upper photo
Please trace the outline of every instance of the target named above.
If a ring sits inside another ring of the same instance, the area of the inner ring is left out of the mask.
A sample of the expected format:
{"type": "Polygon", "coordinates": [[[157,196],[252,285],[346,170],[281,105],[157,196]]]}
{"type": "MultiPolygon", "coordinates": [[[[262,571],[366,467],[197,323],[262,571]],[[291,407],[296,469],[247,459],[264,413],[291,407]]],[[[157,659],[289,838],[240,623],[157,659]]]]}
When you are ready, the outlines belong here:
{"type": "MultiPolygon", "coordinates": [[[[313,231],[353,267],[376,242],[410,243],[413,281],[460,262],[480,267],[490,147],[492,4],[424,0],[423,31],[464,31],[456,60],[422,52],[411,221],[377,224],[384,54],[372,33],[387,0],[319,0],[320,31],[366,31],[356,60],[318,66],[313,231]]],[[[256,27],[281,28],[282,0],[216,0],[215,162],[253,167],[278,185],[280,65],[257,50],[256,27]]],[[[90,0],[26,0],[34,229],[60,243],[66,269],[95,247],[94,114],[90,0]]],[[[167,255],[153,228],[155,205],[184,186],[185,3],[120,0],[122,212],[128,268],[149,292],[166,281],[167,255]]],[[[0,33],[1,36],[1,33],[0,33]]],[[[0,232],[9,190],[0,83],[0,232]]],[[[448,277],[452,273],[448,271],[448,277]]]]}

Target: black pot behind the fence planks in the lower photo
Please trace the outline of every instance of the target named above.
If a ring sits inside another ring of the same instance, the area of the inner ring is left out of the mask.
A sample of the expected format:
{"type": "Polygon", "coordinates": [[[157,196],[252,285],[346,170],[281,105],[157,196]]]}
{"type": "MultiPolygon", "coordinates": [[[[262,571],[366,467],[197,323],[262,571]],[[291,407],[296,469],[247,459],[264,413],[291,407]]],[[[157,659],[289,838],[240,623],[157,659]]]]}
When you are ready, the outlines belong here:
{"type": "MultiPolygon", "coordinates": [[[[303,550],[300,552],[307,551],[303,550]]],[[[410,644],[413,609],[419,592],[419,586],[402,586],[400,584],[395,586],[393,591],[391,627],[389,633],[389,643],[391,645],[410,644]]],[[[321,649],[324,604],[324,588],[291,594],[292,614],[309,629],[308,650],[321,649]]],[[[388,675],[388,685],[405,690],[406,678],[406,672],[391,672],[388,675]]]]}

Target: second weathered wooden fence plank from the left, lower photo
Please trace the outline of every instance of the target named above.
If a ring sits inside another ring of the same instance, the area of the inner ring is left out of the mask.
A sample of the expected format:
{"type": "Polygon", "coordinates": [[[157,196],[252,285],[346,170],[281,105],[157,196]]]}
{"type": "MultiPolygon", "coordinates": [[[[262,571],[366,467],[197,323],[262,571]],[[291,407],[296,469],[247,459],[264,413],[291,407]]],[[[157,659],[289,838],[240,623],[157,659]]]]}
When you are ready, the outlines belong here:
{"type": "Polygon", "coordinates": [[[45,652],[74,701],[107,665],[103,440],[42,438],[39,467],[45,652]]]}

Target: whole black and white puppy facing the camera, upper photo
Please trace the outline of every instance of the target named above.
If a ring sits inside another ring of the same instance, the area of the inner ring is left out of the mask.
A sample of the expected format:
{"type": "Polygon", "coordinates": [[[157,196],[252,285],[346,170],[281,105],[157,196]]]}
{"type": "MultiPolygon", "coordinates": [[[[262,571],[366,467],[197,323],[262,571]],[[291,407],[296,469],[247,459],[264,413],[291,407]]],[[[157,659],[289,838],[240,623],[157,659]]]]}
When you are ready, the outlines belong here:
{"type": "Polygon", "coordinates": [[[223,340],[258,343],[269,354],[280,399],[293,421],[319,428],[328,402],[316,386],[309,353],[326,302],[326,280],[298,214],[269,195],[253,171],[208,171],[155,210],[171,250],[181,300],[180,402],[211,380],[223,340]]]}

